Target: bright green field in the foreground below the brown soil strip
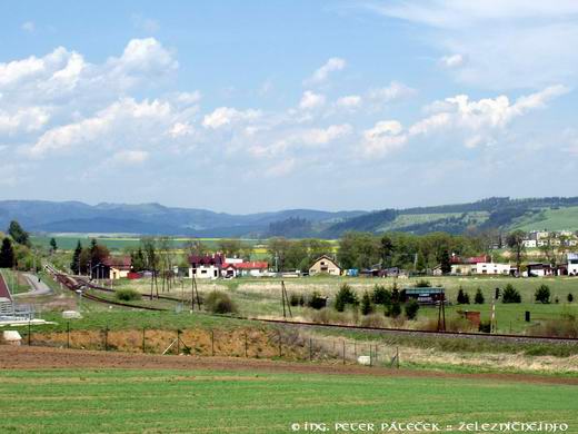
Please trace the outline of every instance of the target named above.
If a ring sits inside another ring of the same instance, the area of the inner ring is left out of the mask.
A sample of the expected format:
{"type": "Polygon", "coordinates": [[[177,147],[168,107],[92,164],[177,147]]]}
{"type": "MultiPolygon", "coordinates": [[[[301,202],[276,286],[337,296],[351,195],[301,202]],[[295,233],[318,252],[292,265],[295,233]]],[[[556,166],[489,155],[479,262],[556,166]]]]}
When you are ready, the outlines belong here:
{"type": "Polygon", "coordinates": [[[3,432],[290,433],[305,422],[558,422],[578,387],[488,379],[219,371],[4,371],[3,432]],[[26,410],[26,411],[24,411],[26,410]]]}

